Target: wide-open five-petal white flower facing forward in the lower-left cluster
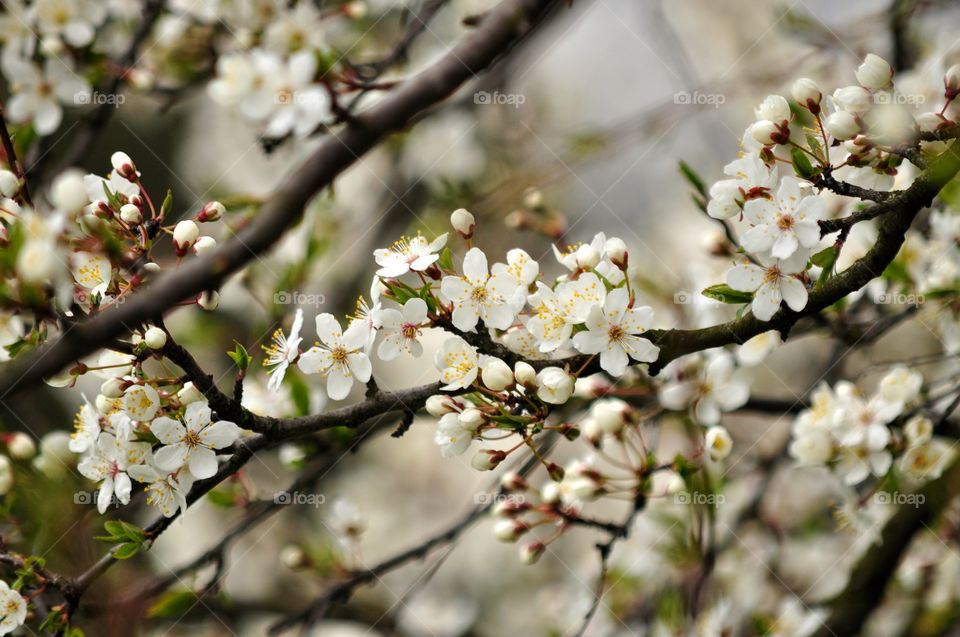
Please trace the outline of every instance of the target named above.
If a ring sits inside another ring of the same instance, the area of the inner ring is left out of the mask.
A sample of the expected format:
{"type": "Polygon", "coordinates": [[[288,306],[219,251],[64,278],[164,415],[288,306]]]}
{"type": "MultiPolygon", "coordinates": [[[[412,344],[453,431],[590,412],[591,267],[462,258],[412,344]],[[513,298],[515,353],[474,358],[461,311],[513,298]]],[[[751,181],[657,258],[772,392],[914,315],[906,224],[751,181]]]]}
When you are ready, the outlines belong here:
{"type": "Polygon", "coordinates": [[[232,422],[210,421],[210,406],[206,402],[187,405],[183,422],[161,416],[150,425],[150,431],[163,444],[154,454],[159,469],[176,471],[182,466],[198,480],[217,472],[215,449],[228,447],[239,437],[240,428],[232,422]]]}

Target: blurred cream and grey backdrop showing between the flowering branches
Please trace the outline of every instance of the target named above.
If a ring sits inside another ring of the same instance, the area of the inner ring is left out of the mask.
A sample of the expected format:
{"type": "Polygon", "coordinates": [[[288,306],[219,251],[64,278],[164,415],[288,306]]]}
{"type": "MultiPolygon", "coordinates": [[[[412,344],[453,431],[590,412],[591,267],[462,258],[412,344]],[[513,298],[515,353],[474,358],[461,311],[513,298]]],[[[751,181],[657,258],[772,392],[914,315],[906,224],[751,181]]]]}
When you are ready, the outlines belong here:
{"type": "MultiPolygon", "coordinates": [[[[465,17],[493,4],[447,3],[392,77],[429,65],[469,29],[465,17]]],[[[358,44],[353,30],[330,37],[348,43],[342,48],[349,47],[347,57],[355,63],[379,59],[419,9],[417,2],[370,0],[367,20],[373,26],[358,44]]],[[[691,202],[678,163],[686,161],[708,184],[720,179],[764,96],[786,93],[800,76],[823,87],[852,83],[868,52],[898,68],[922,60],[915,74],[942,75],[942,57],[927,56],[954,48],[958,12],[954,3],[919,0],[576,0],[491,73],[340,177],[275,250],[225,287],[216,312],[186,308],[167,325],[226,389],[232,372],[224,352],[235,340],[259,354],[259,345],[278,325],[289,326],[298,304],[308,316],[305,331],[312,340],[315,313],[349,315],[358,296],[369,296],[375,248],[402,234],[433,238],[447,232],[449,213],[458,207],[476,216],[476,242],[492,258],[523,247],[540,260],[541,271],[554,274],[561,268],[552,241],[589,241],[601,231],[619,236],[630,246],[631,263],[648,283],[661,320],[689,321],[672,295],[719,280],[727,262],[709,256],[718,226],[691,202]]],[[[155,52],[158,65],[161,52],[155,52]]],[[[362,103],[376,99],[374,92],[362,103]]],[[[83,167],[103,174],[110,154],[124,150],[137,162],[147,188],[153,193],[171,188],[174,209],[186,215],[211,199],[242,206],[236,202],[244,197],[269,196],[317,141],[285,143],[266,152],[254,127],[214,104],[200,88],[159,97],[131,94],[83,167]]],[[[48,152],[56,153],[56,142],[48,152]]],[[[718,314],[726,311],[717,308],[718,314]]],[[[932,338],[922,328],[908,329],[914,331],[892,333],[887,358],[895,358],[898,348],[920,353],[932,338]]],[[[432,345],[438,341],[434,338],[432,345]]],[[[827,342],[791,342],[758,372],[754,394],[797,399],[836,362],[831,356],[827,342]]],[[[431,362],[428,347],[418,361],[376,363],[374,375],[384,388],[418,385],[436,380],[431,362]]],[[[844,364],[856,368],[869,362],[844,364]]],[[[5,429],[40,437],[68,428],[81,392],[97,392],[96,383],[89,382],[71,392],[41,389],[5,400],[5,429]]],[[[264,387],[265,375],[252,371],[245,387],[251,409],[294,414],[327,404],[309,386],[302,392],[286,386],[280,396],[268,395],[264,387]]],[[[360,397],[359,389],[355,394],[352,400],[360,397]]],[[[728,493],[732,504],[721,515],[729,511],[735,518],[738,494],[749,502],[758,492],[757,481],[767,480],[757,505],[767,524],[727,527],[732,547],[717,565],[717,577],[738,603],[746,600],[774,615],[784,589],[810,603],[829,597],[842,587],[845,566],[858,555],[856,542],[844,534],[812,540],[801,527],[815,519],[814,526],[823,528],[824,503],[837,494],[813,472],[784,466],[767,478],[756,471],[781,452],[789,418],[729,420],[735,453],[744,455],[744,462],[728,493]]],[[[205,499],[146,557],[97,584],[103,608],[92,604],[84,612],[94,623],[81,619],[80,625],[88,635],[263,634],[278,613],[324,591],[324,575],[376,563],[483,502],[491,476],[472,470],[465,457],[441,458],[434,427],[430,418],[417,419],[400,440],[387,429],[356,453],[345,454],[318,480],[315,492],[322,498],[288,507],[231,545],[218,594],[173,610],[168,599],[168,607],[155,609],[159,619],[129,627],[128,615],[109,612],[111,600],[169,576],[215,544],[243,514],[205,499]],[[306,561],[312,566],[303,567],[306,561]]],[[[558,458],[583,452],[560,447],[558,458]]],[[[246,493],[269,498],[285,488],[303,453],[287,447],[262,454],[240,480],[246,493]]],[[[10,527],[4,537],[29,538],[55,570],[75,573],[94,561],[104,550],[91,539],[100,531],[99,518],[93,507],[74,503],[73,490],[58,486],[67,482],[82,492],[92,485],[69,466],[60,475],[22,479],[30,482],[23,485],[27,490],[3,503],[10,527]]],[[[218,499],[235,504],[233,488],[225,487],[218,499]]],[[[152,513],[133,508],[121,515],[142,524],[152,513]]],[[[683,538],[677,536],[683,525],[671,525],[673,515],[666,504],[651,507],[630,540],[617,546],[611,562],[617,583],[588,634],[636,634],[630,622],[615,615],[642,613],[650,600],[645,595],[658,595],[666,582],[685,581],[689,565],[673,559],[682,548],[683,538]]],[[[598,568],[593,545],[601,538],[590,530],[568,533],[538,566],[525,567],[515,547],[497,542],[484,521],[451,547],[361,588],[349,605],[334,609],[336,619],[309,634],[569,635],[592,599],[598,568]]],[[[203,585],[212,571],[191,575],[174,590],[203,585]]],[[[943,586],[950,591],[944,594],[953,594],[956,583],[943,586]]],[[[878,627],[870,634],[885,633],[878,627]]]]}

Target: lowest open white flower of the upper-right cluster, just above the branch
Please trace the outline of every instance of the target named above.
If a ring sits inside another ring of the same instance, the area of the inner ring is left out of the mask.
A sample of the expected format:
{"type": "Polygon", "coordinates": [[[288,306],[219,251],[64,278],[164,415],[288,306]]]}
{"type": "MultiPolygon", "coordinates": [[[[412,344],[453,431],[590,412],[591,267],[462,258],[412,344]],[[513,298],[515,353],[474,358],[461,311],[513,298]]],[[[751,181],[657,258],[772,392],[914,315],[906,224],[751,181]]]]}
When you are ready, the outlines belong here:
{"type": "Polygon", "coordinates": [[[769,321],[780,302],[799,312],[807,305],[807,288],[794,274],[803,272],[808,254],[804,250],[794,252],[788,259],[758,255],[761,265],[746,263],[727,272],[727,284],[734,290],[753,292],[751,308],[761,321],[769,321]]]}

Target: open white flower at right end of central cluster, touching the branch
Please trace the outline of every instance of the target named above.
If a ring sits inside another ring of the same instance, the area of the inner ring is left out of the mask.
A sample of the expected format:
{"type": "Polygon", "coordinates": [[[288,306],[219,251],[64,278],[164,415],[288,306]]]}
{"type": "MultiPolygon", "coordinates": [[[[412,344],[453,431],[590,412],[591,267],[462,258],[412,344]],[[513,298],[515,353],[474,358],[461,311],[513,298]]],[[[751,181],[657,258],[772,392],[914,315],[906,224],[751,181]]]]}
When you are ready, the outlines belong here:
{"type": "Polygon", "coordinates": [[[603,307],[594,305],[587,317],[587,331],[573,337],[573,346],[584,354],[600,354],[600,367],[613,376],[622,376],[632,358],[641,363],[657,360],[660,348],[643,334],[653,323],[653,309],[628,307],[630,294],[616,288],[607,294],[603,307]]]}

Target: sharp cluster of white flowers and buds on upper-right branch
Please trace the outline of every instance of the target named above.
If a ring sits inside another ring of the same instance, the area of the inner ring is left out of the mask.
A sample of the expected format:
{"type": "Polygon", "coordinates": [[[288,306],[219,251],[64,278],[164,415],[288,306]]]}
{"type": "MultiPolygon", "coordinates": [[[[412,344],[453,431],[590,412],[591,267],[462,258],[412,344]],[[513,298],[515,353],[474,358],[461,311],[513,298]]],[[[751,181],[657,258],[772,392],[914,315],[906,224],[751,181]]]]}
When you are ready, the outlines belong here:
{"type": "Polygon", "coordinates": [[[821,177],[886,192],[902,174],[896,185],[908,186],[916,171],[903,170],[895,147],[954,124],[960,65],[946,72],[943,108],[935,112],[920,112],[923,100],[899,93],[892,78],[890,65],[871,54],[857,69],[859,86],[825,97],[813,80],[797,80],[794,109],[769,95],[744,133],[741,157],[724,170],[729,178],[710,188],[707,212],[744,225],[740,244],[752,260],[738,263],[726,282],[752,295],[757,318],[770,319],[784,302],[795,311],[806,307],[811,257],[826,246],[818,222],[833,202],[814,192],[821,177]]]}

